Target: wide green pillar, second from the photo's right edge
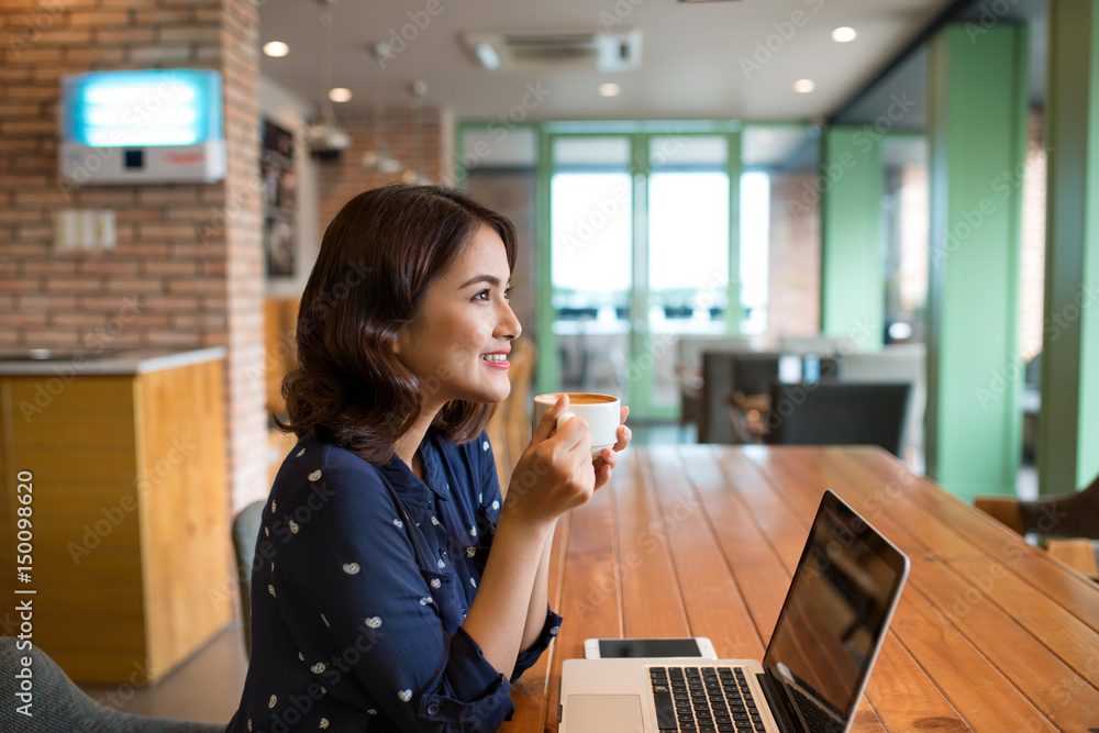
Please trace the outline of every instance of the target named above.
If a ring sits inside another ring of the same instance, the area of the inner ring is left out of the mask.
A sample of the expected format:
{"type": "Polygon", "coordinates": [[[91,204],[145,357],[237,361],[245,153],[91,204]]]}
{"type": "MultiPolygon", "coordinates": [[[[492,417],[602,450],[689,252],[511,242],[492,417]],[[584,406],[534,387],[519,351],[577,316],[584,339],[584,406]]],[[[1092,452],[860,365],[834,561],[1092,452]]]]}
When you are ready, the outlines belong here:
{"type": "MultiPolygon", "coordinates": [[[[961,25],[929,48],[928,473],[961,498],[1013,493],[1026,29],[961,25]]],[[[1019,373],[1021,375],[1021,371],[1019,373]]]]}

